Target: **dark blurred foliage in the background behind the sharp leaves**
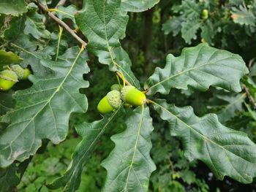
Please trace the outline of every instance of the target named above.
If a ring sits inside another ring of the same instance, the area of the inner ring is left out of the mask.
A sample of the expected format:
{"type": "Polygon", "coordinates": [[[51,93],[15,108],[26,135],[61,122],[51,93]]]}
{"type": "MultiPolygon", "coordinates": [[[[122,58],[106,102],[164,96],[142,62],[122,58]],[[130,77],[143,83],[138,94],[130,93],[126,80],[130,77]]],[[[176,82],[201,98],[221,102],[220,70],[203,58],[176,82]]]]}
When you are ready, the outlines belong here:
{"type": "MultiPolygon", "coordinates": [[[[70,4],[80,9],[82,1],[66,1],[64,6],[70,4]]],[[[56,1],[49,4],[49,7],[55,6],[56,1]]],[[[121,44],[129,53],[132,71],[141,83],[153,73],[156,66],[165,65],[167,53],[180,55],[183,47],[208,42],[211,46],[238,53],[251,71],[249,77],[244,77],[243,85],[246,85],[249,93],[256,99],[255,17],[255,0],[162,0],[146,12],[129,13],[127,37],[121,41],[121,44]],[[208,18],[202,18],[203,9],[208,9],[208,18]]],[[[72,26],[69,18],[64,20],[72,26]]],[[[48,18],[45,19],[45,25],[48,31],[52,32],[50,35],[52,44],[49,43],[44,50],[45,53],[50,54],[53,53],[50,48],[56,45],[59,28],[48,18]]],[[[67,47],[67,45],[70,47],[76,45],[76,42],[64,31],[61,46],[67,47]]],[[[75,132],[75,125],[84,120],[90,122],[100,118],[96,110],[97,103],[117,80],[115,74],[109,72],[107,66],[99,64],[94,56],[89,55],[88,63],[91,73],[84,78],[89,80],[90,87],[80,90],[81,93],[86,93],[90,101],[88,112],[72,115],[69,135],[60,145],[48,144],[45,141],[47,147],[42,149],[45,153],[39,152],[34,155],[18,185],[18,191],[50,191],[45,187],[45,183],[50,183],[64,173],[75,146],[80,142],[81,138],[75,132]]],[[[215,112],[222,123],[230,128],[245,131],[256,142],[256,112],[249,103],[245,91],[234,94],[219,88],[210,88],[207,92],[192,89],[173,90],[168,96],[158,95],[158,97],[165,98],[178,107],[191,105],[195,114],[199,116],[215,112]]],[[[219,181],[205,164],[200,161],[189,163],[184,158],[181,142],[170,137],[170,130],[165,122],[154,114],[151,116],[154,119],[151,156],[157,165],[157,170],[151,176],[149,191],[255,191],[255,182],[243,185],[228,177],[225,177],[224,181],[219,181]]],[[[106,171],[100,163],[114,147],[110,137],[124,130],[123,118],[116,119],[115,125],[99,140],[97,150],[83,169],[79,192],[97,192],[102,188],[106,171]]]]}

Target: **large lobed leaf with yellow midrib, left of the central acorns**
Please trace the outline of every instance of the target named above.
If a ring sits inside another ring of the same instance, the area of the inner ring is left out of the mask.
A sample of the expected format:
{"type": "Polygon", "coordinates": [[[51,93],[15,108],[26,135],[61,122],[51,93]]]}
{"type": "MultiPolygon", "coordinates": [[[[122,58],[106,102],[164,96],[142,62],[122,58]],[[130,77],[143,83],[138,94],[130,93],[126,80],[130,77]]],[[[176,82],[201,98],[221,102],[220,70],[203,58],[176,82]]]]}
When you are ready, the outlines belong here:
{"type": "Polygon", "coordinates": [[[15,93],[15,109],[1,117],[2,122],[10,123],[0,135],[1,167],[34,155],[42,139],[50,139],[54,144],[63,141],[69,115],[86,112],[87,99],[79,93],[79,88],[89,86],[83,80],[89,67],[87,55],[81,51],[78,53],[78,47],[72,47],[59,57],[59,62],[42,60],[41,64],[54,74],[31,76],[34,85],[15,93]]]}

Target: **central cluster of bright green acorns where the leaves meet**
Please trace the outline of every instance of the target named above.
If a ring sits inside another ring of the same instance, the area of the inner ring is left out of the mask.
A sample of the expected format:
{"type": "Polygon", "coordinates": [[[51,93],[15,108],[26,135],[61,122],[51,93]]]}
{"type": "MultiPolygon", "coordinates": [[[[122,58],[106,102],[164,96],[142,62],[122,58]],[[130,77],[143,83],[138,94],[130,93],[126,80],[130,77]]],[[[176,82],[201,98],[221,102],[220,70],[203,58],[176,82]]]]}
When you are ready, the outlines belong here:
{"type": "Polygon", "coordinates": [[[118,109],[124,102],[125,106],[137,107],[146,103],[146,96],[132,85],[114,84],[110,92],[99,101],[98,111],[102,114],[118,109]]]}

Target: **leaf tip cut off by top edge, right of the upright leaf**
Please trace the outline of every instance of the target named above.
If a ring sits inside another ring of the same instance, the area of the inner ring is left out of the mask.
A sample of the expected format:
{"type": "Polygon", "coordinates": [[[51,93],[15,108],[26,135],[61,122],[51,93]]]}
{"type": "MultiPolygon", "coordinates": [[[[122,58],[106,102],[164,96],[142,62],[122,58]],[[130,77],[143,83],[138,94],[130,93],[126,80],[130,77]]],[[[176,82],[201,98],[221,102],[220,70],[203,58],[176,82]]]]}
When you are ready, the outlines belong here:
{"type": "Polygon", "coordinates": [[[121,8],[127,12],[143,12],[158,3],[159,0],[121,0],[121,8]]]}

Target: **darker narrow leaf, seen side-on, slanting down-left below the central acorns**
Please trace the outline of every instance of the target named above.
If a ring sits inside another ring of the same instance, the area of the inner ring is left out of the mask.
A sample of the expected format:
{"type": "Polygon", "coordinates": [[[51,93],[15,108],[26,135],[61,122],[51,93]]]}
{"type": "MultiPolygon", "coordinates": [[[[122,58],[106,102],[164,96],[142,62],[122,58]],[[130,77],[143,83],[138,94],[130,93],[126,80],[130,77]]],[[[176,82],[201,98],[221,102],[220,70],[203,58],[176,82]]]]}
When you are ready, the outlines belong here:
{"type": "Polygon", "coordinates": [[[75,148],[72,155],[72,161],[65,174],[53,183],[48,185],[50,189],[57,189],[64,186],[64,191],[75,191],[79,188],[80,177],[83,171],[83,166],[87,163],[93,153],[99,137],[105,132],[106,128],[116,118],[121,108],[116,110],[112,115],[106,115],[102,120],[94,121],[93,123],[81,123],[76,126],[78,134],[83,137],[83,140],[75,148]]]}

